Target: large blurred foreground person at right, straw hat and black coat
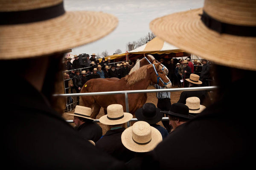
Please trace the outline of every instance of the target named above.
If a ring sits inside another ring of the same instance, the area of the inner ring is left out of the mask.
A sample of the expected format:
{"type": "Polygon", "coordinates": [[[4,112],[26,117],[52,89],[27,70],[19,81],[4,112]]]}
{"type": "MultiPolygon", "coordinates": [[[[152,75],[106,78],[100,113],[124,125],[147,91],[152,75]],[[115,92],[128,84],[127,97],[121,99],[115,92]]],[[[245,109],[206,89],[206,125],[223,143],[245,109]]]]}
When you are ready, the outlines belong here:
{"type": "Polygon", "coordinates": [[[143,169],[154,165],[162,170],[231,170],[254,166],[251,153],[255,147],[252,117],[255,101],[248,100],[248,95],[255,96],[256,92],[244,83],[256,74],[255,31],[247,30],[256,27],[256,23],[251,23],[256,21],[252,6],[256,6],[253,0],[242,4],[205,0],[204,8],[151,21],[152,31],[161,39],[215,62],[211,69],[218,88],[214,90],[214,103],[158,144],[142,162],[143,169]],[[230,30],[230,25],[236,26],[236,31],[230,30]],[[167,27],[162,29],[163,26],[167,27]],[[180,29],[184,26],[193,29],[180,29]],[[244,42],[247,45],[239,50],[244,42]]]}

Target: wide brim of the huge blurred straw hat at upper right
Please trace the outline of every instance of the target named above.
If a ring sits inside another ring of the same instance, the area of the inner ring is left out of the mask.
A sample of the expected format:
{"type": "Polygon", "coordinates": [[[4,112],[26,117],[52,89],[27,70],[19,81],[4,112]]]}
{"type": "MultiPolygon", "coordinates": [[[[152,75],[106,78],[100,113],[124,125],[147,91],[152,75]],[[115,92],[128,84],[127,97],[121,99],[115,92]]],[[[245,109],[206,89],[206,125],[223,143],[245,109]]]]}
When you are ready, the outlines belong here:
{"type": "Polygon", "coordinates": [[[219,65],[256,71],[256,37],[219,34],[201,22],[202,8],[169,14],[150,23],[153,33],[219,65]]]}

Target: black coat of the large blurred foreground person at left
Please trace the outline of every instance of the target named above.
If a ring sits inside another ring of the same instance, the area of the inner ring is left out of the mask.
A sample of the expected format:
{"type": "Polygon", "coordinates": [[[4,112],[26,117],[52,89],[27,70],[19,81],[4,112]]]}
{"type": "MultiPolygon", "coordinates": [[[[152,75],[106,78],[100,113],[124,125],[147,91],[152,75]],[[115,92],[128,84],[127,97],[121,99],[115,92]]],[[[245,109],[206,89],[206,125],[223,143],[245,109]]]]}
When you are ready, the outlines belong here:
{"type": "Polygon", "coordinates": [[[33,170],[125,168],[122,162],[82,138],[32,85],[17,77],[16,80],[19,88],[10,83],[11,95],[9,91],[1,94],[8,108],[2,115],[6,120],[2,122],[3,167],[33,170]]]}

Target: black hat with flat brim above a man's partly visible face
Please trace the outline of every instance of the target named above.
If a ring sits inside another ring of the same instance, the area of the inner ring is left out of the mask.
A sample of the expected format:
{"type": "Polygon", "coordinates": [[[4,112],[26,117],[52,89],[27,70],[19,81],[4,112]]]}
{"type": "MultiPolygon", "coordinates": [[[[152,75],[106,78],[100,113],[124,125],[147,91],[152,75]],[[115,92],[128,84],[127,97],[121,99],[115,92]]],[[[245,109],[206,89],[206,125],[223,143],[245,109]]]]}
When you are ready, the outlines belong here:
{"type": "Polygon", "coordinates": [[[195,117],[189,114],[189,107],[183,103],[174,103],[169,111],[161,112],[186,119],[193,119],[195,117]]]}

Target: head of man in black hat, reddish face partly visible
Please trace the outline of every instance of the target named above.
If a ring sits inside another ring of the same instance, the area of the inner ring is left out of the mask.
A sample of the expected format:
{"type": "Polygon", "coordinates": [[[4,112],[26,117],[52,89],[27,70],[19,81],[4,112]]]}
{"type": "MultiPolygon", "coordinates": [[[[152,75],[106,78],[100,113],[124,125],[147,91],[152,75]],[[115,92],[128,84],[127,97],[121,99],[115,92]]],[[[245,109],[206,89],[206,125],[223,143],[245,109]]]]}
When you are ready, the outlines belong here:
{"type": "Polygon", "coordinates": [[[168,114],[169,124],[172,125],[172,131],[178,126],[186,123],[189,119],[195,117],[189,114],[189,107],[183,103],[174,103],[169,111],[161,112],[168,114]]]}

